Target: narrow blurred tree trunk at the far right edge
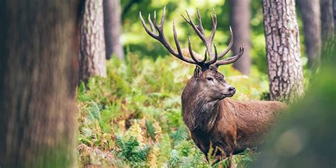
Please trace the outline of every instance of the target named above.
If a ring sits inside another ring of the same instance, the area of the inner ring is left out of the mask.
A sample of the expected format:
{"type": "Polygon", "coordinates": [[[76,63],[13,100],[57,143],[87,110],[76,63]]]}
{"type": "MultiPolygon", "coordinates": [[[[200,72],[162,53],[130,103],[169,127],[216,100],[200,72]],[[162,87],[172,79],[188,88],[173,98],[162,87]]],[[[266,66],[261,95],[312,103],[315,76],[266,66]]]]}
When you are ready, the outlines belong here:
{"type": "Polygon", "coordinates": [[[334,34],[334,16],[332,16],[332,0],[320,0],[321,33],[323,42],[334,34]]]}

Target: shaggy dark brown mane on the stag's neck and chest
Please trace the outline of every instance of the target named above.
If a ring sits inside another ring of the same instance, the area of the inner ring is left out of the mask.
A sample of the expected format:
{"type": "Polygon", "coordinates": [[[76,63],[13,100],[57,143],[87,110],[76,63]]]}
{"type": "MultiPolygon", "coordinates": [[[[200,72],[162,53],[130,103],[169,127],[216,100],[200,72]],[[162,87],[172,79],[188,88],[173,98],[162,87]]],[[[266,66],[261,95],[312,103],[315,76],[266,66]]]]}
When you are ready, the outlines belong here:
{"type": "Polygon", "coordinates": [[[220,101],[209,102],[206,100],[203,97],[205,93],[198,91],[198,85],[194,80],[187,84],[182,93],[184,122],[191,132],[201,131],[202,133],[208,133],[215,125],[215,122],[218,121],[220,101]]]}

